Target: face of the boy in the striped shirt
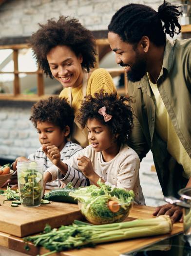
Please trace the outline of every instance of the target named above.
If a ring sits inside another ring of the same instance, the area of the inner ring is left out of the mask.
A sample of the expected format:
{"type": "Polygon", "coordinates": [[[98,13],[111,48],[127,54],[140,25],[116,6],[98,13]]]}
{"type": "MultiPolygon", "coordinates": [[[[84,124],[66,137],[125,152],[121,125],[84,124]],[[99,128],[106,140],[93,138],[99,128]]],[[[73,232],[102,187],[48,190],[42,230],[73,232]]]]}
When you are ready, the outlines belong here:
{"type": "Polygon", "coordinates": [[[61,151],[66,144],[65,131],[53,123],[37,121],[37,132],[42,146],[54,145],[61,151]]]}

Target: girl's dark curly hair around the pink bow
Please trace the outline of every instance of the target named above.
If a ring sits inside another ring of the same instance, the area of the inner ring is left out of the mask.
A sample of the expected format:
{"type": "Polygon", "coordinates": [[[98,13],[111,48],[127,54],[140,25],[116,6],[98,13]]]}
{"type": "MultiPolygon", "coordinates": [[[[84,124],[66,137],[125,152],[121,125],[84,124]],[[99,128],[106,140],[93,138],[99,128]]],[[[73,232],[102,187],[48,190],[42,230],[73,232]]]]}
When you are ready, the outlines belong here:
{"type": "Polygon", "coordinates": [[[94,97],[86,96],[86,100],[81,103],[76,119],[83,129],[89,118],[96,118],[103,125],[108,126],[114,136],[118,134],[116,140],[119,144],[124,144],[133,128],[132,108],[124,101],[132,100],[122,96],[119,98],[117,93],[109,94],[101,90],[99,93],[95,93],[94,97]],[[98,110],[104,106],[106,113],[112,115],[112,119],[108,122],[105,122],[103,116],[98,113],[98,110]]]}

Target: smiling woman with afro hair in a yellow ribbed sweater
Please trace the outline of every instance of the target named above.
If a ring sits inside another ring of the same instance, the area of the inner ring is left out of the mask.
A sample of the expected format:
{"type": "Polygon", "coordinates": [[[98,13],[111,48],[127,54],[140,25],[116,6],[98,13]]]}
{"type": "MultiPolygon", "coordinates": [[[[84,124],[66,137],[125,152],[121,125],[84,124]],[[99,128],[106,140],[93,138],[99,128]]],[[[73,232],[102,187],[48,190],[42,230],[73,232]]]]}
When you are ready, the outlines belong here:
{"type": "MultiPolygon", "coordinates": [[[[107,93],[116,92],[106,70],[98,69],[88,74],[96,62],[95,40],[91,31],[78,20],[64,16],[58,21],[50,19],[40,25],[30,43],[39,67],[63,86],[59,96],[68,99],[75,116],[86,95],[94,95],[101,89],[107,93]]],[[[76,119],[72,140],[82,146],[88,145],[87,129],[82,131],[76,119]]]]}

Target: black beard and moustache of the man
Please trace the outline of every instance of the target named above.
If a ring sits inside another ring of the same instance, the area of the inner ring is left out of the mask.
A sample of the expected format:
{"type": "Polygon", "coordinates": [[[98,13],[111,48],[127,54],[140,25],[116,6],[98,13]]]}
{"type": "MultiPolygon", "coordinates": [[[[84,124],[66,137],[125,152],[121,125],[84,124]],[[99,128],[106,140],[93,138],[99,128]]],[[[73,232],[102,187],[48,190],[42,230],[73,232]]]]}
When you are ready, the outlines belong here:
{"type": "MultiPolygon", "coordinates": [[[[140,81],[141,78],[146,74],[146,60],[141,58],[140,55],[136,52],[136,61],[133,66],[131,66],[131,70],[127,73],[127,78],[131,82],[140,81]]],[[[120,63],[122,67],[128,66],[126,64],[120,63]]]]}

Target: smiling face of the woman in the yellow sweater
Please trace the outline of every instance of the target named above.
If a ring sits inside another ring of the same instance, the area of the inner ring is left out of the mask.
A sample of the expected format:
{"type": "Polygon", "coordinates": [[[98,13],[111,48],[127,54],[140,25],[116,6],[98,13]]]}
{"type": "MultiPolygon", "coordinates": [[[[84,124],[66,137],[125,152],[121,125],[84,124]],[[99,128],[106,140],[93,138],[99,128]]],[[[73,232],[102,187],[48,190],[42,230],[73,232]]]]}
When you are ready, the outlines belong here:
{"type": "Polygon", "coordinates": [[[70,47],[56,46],[49,51],[46,57],[52,75],[64,88],[75,88],[82,84],[83,58],[81,55],[77,57],[70,47]]]}

